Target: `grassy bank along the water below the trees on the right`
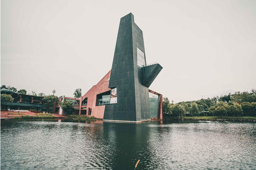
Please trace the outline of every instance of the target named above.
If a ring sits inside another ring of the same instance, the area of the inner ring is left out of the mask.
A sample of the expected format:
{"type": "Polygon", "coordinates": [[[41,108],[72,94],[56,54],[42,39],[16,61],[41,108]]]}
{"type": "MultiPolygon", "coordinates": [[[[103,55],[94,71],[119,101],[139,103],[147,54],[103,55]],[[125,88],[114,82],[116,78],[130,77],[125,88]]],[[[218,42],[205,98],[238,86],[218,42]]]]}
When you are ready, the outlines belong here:
{"type": "MultiPolygon", "coordinates": [[[[164,120],[178,120],[178,117],[165,116],[164,120]]],[[[255,121],[256,117],[219,117],[219,116],[198,116],[198,117],[183,117],[183,120],[229,120],[229,121],[255,121]]]]}

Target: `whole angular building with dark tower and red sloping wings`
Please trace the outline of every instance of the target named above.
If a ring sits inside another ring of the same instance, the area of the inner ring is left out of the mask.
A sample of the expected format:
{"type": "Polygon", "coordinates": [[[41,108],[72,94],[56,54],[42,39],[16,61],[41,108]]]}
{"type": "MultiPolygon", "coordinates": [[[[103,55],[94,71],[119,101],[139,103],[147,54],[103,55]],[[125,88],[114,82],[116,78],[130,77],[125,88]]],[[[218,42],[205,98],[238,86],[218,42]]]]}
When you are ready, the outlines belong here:
{"type": "MultiPolygon", "coordinates": [[[[105,121],[162,119],[162,95],[148,89],[161,69],[146,63],[143,32],[129,13],[120,20],[112,69],[80,99],[59,100],[71,100],[79,115],[105,121]]],[[[58,104],[55,112],[63,114],[58,104]]]]}

